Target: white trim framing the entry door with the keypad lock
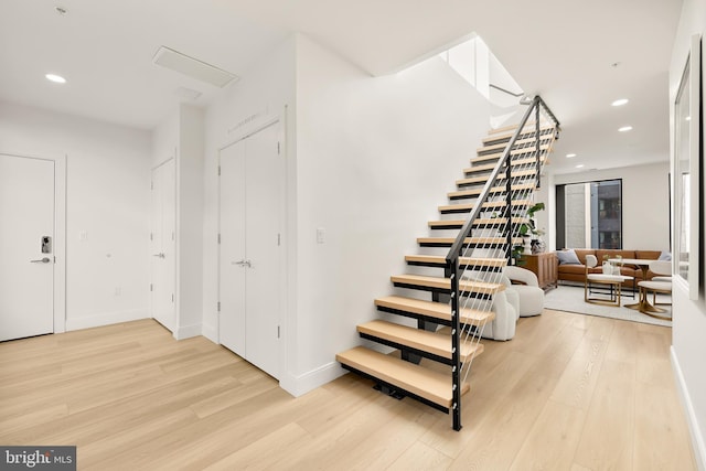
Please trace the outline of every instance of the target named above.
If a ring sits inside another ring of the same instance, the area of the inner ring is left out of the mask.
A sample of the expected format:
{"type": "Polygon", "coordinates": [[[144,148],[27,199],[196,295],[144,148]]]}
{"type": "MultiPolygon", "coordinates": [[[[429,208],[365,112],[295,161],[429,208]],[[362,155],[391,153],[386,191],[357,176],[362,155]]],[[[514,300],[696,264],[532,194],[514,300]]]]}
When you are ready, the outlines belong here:
{"type": "Polygon", "coordinates": [[[54,333],[66,332],[66,154],[33,156],[1,149],[0,153],[54,162],[54,333]]]}

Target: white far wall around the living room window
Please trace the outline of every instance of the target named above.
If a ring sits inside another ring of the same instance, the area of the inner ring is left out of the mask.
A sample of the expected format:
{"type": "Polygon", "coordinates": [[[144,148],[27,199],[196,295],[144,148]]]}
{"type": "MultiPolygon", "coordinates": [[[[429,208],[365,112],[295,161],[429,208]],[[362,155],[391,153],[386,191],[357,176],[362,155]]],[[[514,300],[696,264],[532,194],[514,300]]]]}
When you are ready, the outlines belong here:
{"type": "MultiPolygon", "coordinates": [[[[556,185],[598,180],[622,179],[622,246],[625,249],[670,249],[670,164],[652,163],[620,169],[595,170],[554,175],[547,179],[537,201],[548,211],[537,213],[538,227],[547,227],[547,246],[556,247],[556,185]]],[[[558,247],[563,248],[563,247],[558,247]]]]}

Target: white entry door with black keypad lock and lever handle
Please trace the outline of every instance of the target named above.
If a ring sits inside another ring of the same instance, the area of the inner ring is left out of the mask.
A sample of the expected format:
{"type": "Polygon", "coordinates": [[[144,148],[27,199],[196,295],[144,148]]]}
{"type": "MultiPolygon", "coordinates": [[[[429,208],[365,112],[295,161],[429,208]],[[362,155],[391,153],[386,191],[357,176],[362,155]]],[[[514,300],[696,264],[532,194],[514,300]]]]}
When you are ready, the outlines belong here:
{"type": "Polygon", "coordinates": [[[0,341],[54,332],[54,171],[0,154],[0,341]]]}

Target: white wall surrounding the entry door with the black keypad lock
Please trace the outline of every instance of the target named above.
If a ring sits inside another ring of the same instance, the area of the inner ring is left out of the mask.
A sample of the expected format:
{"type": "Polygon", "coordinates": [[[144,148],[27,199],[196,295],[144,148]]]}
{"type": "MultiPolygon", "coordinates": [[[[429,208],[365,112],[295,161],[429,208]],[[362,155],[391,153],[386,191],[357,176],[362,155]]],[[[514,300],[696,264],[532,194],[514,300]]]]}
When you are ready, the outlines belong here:
{"type": "Polygon", "coordinates": [[[150,133],[0,103],[0,149],[67,156],[66,329],[148,317],[150,133]]]}

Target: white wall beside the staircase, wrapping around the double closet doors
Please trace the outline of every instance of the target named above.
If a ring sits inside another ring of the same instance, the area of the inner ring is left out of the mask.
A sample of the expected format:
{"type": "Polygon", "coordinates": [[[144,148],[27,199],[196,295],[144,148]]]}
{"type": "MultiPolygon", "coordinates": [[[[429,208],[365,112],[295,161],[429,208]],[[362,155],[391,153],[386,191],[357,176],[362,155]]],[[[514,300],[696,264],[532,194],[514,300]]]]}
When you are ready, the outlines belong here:
{"type": "Polygon", "coordinates": [[[288,159],[280,385],[300,395],[342,374],[335,353],[360,343],[355,324],[377,315],[373,299],[405,271],[489,114],[441,61],[373,78],[302,35],[244,73],[205,120],[203,332],[212,340],[218,149],[276,117],[287,124],[288,159]]]}

